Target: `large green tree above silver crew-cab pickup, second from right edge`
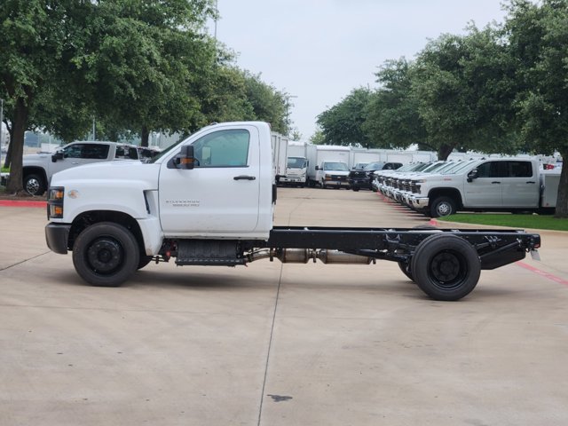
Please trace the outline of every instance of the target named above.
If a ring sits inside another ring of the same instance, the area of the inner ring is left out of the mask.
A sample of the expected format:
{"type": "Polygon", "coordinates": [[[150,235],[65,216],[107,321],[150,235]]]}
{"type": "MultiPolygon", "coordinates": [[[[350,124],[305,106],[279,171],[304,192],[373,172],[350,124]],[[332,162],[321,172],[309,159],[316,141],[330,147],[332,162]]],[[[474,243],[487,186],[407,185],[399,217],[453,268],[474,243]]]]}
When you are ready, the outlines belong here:
{"type": "Polygon", "coordinates": [[[510,111],[510,91],[501,85],[512,68],[498,34],[495,28],[471,26],[466,36],[443,35],[431,41],[416,59],[413,91],[418,112],[429,144],[442,160],[454,149],[516,149],[503,122],[510,111]]]}

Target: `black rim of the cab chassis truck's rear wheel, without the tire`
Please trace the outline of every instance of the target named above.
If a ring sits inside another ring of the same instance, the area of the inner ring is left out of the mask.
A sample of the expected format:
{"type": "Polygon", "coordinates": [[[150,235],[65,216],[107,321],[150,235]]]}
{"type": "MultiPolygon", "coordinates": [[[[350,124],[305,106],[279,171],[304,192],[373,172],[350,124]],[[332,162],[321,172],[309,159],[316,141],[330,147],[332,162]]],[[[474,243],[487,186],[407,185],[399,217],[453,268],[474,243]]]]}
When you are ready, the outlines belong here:
{"type": "Polygon", "coordinates": [[[468,276],[465,258],[454,251],[441,251],[430,261],[429,272],[432,283],[441,289],[458,288],[468,276]]]}

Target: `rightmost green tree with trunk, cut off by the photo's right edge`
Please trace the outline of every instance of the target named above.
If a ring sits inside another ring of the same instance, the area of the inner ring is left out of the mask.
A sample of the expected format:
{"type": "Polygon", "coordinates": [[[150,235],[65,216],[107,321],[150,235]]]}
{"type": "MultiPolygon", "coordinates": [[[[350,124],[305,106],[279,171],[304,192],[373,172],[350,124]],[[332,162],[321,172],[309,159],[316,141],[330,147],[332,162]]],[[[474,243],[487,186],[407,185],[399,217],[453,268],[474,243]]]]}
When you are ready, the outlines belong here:
{"type": "MultiPolygon", "coordinates": [[[[568,158],[568,3],[509,4],[505,28],[517,65],[518,128],[525,146],[568,158]]],[[[568,217],[568,168],[560,176],[556,217],[568,217]]]]}

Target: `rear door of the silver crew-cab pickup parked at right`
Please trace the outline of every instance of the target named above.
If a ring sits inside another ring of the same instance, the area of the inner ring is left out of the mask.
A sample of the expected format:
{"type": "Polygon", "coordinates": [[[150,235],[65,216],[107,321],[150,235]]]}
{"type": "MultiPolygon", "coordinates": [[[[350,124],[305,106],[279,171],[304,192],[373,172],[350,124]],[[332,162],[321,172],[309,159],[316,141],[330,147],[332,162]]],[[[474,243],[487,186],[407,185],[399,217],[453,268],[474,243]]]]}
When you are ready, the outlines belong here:
{"type": "Polygon", "coordinates": [[[540,182],[533,169],[530,161],[503,162],[503,207],[539,207],[540,182]]]}

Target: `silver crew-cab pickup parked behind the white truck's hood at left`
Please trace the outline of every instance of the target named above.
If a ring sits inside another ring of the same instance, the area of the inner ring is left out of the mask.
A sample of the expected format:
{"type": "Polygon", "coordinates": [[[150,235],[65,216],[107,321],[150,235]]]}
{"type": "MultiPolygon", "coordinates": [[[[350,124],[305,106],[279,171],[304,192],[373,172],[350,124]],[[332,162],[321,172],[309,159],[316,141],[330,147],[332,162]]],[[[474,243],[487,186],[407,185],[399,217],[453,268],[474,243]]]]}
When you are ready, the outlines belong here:
{"type": "Polygon", "coordinates": [[[42,195],[51,177],[58,171],[91,162],[138,160],[138,158],[138,147],[130,144],[104,141],[72,142],[60,147],[54,153],[24,155],[22,158],[23,186],[32,195],[42,195]]]}

